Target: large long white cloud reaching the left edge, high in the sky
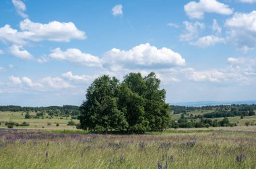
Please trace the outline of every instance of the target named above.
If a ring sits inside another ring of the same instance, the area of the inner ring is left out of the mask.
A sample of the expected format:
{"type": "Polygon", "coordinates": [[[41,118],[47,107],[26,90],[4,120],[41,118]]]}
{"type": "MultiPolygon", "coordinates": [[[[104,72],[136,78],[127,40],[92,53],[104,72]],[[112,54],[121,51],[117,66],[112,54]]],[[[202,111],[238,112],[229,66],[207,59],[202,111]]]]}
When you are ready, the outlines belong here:
{"type": "Polygon", "coordinates": [[[69,42],[71,39],[86,39],[86,33],[78,30],[72,22],[51,21],[43,24],[24,19],[20,22],[20,30],[18,32],[10,25],[0,27],[0,40],[4,43],[26,44],[28,41],[69,42]]]}

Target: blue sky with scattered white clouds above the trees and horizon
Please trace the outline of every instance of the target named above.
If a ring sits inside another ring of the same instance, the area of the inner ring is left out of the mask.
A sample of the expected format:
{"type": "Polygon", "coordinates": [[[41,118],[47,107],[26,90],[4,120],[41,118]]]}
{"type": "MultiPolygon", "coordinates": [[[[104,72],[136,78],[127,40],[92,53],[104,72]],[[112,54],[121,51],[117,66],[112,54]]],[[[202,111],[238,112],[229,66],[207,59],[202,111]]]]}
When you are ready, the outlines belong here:
{"type": "Polygon", "coordinates": [[[256,100],[256,0],[0,1],[0,105],[81,105],[156,72],[166,103],[256,100]]]}

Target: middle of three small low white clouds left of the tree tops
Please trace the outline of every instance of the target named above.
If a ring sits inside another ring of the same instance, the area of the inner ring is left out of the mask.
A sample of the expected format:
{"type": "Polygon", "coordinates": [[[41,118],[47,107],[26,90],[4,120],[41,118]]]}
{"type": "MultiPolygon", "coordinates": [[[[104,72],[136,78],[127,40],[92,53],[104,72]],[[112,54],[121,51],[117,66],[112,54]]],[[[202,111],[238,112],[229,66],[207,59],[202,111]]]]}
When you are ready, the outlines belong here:
{"type": "Polygon", "coordinates": [[[48,76],[48,77],[42,78],[40,82],[42,82],[43,84],[46,84],[47,86],[53,89],[67,89],[67,88],[73,87],[59,77],[53,78],[51,76],[48,76]]]}

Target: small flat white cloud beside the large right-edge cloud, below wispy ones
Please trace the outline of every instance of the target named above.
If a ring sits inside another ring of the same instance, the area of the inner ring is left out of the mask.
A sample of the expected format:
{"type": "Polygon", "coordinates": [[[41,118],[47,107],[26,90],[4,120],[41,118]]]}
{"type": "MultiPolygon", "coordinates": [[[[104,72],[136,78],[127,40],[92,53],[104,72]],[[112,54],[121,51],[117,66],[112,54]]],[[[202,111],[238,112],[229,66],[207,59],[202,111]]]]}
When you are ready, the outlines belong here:
{"type": "Polygon", "coordinates": [[[208,46],[214,46],[217,43],[224,43],[225,39],[220,38],[218,36],[210,35],[199,38],[196,42],[191,42],[191,44],[195,46],[199,46],[200,48],[206,48],[208,46]]]}

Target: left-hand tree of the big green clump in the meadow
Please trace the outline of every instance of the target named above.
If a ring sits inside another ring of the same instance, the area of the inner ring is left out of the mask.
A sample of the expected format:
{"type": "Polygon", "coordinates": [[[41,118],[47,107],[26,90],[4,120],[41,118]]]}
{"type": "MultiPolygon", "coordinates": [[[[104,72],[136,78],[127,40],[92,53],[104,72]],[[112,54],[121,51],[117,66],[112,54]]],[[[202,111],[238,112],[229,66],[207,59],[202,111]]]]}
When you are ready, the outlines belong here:
{"type": "Polygon", "coordinates": [[[87,90],[86,101],[80,107],[81,128],[91,131],[108,131],[127,127],[125,115],[117,107],[115,96],[117,78],[101,76],[92,82],[87,90]]]}

